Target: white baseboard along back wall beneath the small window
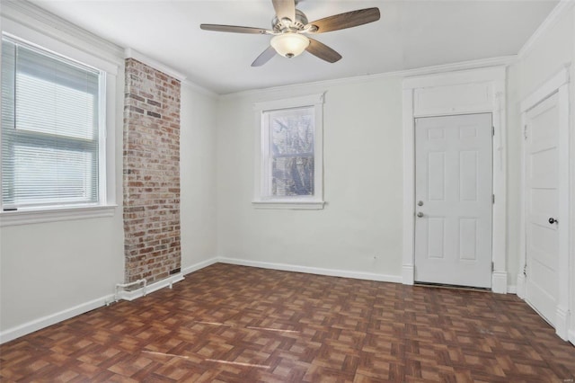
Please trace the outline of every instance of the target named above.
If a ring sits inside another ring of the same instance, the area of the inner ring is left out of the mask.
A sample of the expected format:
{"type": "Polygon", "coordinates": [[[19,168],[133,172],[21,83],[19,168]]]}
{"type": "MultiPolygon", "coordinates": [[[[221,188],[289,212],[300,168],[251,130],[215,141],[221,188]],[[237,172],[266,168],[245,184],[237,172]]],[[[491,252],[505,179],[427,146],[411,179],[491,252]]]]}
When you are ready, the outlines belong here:
{"type": "Polygon", "coordinates": [[[298,266],[295,264],[286,263],[246,261],[243,259],[226,257],[218,258],[217,262],[238,264],[241,266],[259,267],[261,269],[281,270],[284,272],[305,272],[306,274],[328,275],[331,277],[353,278],[356,280],[402,283],[401,276],[376,274],[374,272],[348,272],[344,270],[322,269],[317,267],[298,266]]]}

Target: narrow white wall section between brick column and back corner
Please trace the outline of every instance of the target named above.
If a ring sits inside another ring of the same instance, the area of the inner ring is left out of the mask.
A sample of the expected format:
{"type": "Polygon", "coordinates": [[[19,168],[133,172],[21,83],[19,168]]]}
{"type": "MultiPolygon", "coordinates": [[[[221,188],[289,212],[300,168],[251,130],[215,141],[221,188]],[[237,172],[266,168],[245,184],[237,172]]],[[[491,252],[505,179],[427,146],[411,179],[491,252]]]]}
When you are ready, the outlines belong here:
{"type": "Polygon", "coordinates": [[[216,256],[215,95],[183,83],[180,126],[181,270],[216,256]]]}

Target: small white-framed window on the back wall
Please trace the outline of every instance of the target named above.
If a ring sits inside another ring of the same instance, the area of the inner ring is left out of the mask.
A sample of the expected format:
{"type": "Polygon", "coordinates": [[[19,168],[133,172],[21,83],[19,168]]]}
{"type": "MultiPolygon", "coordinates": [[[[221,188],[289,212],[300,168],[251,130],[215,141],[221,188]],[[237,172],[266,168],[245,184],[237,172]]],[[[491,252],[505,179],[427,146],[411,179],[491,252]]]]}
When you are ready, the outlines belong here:
{"type": "Polygon", "coordinates": [[[323,94],[255,105],[260,208],[322,209],[323,94]]]}

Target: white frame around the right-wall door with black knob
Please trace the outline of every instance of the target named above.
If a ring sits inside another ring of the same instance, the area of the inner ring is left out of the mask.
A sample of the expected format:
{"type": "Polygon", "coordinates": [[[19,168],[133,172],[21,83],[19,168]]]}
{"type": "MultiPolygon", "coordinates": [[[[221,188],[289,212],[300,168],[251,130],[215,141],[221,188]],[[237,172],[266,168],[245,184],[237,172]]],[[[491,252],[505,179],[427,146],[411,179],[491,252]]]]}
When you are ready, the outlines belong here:
{"type": "MultiPolygon", "coordinates": [[[[543,102],[553,94],[558,95],[557,107],[559,110],[559,210],[563,211],[561,222],[559,223],[559,265],[558,265],[558,296],[555,308],[555,333],[563,340],[568,339],[570,311],[569,311],[569,241],[570,241],[570,170],[569,170],[569,71],[567,65],[555,74],[544,85],[533,94],[526,97],[521,102],[521,127],[523,137],[526,134],[526,124],[528,111],[531,111],[540,102],[543,102]]],[[[519,236],[519,271],[517,272],[517,296],[526,299],[526,144],[525,139],[521,141],[521,209],[520,209],[520,236],[519,236]]]]}

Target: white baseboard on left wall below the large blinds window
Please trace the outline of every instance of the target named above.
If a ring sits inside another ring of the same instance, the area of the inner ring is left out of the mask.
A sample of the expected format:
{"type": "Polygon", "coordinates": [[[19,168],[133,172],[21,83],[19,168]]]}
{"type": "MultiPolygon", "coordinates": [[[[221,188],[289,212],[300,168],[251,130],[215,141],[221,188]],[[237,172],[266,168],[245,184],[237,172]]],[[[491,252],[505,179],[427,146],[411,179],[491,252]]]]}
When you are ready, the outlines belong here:
{"type": "Polygon", "coordinates": [[[22,335],[31,334],[34,331],[41,330],[42,328],[48,327],[49,325],[56,325],[57,323],[65,321],[66,319],[69,319],[73,316],[79,316],[80,314],[87,313],[94,308],[105,306],[113,300],[113,294],[106,295],[102,298],[96,298],[75,307],[66,308],[65,310],[55,314],[42,316],[22,325],[17,325],[13,328],[9,328],[0,333],[0,344],[10,342],[13,339],[21,337],[22,335]]]}

